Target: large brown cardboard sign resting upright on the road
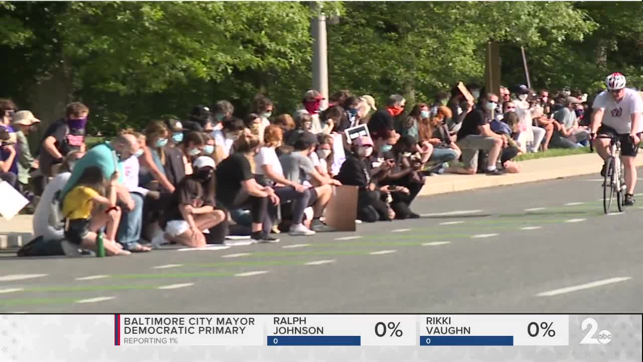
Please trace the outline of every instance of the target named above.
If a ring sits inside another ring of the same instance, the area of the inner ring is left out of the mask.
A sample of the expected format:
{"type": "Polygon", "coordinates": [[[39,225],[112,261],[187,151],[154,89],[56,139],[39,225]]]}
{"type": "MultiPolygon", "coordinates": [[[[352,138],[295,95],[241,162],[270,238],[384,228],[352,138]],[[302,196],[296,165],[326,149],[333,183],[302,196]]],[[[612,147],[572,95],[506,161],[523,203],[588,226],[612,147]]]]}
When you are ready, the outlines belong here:
{"type": "Polygon", "coordinates": [[[358,187],[334,186],[326,205],[326,224],[337,231],[355,231],[358,215],[358,187]]]}

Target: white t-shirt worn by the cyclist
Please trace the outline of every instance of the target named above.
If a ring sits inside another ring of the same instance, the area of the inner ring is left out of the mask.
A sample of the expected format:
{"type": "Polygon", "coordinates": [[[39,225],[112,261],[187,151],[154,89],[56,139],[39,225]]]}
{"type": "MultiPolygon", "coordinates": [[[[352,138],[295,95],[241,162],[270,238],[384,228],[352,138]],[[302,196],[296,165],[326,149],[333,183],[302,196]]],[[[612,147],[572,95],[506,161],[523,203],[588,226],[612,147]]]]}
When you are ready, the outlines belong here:
{"type": "MultiPolygon", "coordinates": [[[[629,134],[632,130],[632,113],[643,113],[643,99],[638,92],[625,88],[625,96],[616,102],[610,92],[602,91],[593,102],[594,110],[603,110],[602,124],[615,129],[617,133],[629,134]]],[[[643,122],[637,132],[643,131],[643,122]]]]}

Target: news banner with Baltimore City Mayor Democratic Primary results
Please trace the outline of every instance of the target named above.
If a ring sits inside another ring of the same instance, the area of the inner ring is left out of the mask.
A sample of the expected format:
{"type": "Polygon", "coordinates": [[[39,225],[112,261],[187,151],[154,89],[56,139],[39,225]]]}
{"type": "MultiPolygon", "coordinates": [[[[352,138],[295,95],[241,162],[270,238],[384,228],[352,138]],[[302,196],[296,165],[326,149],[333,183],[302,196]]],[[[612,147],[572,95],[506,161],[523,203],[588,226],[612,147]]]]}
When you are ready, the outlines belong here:
{"type": "Polygon", "coordinates": [[[640,314],[4,314],[0,361],[638,362],[641,328],[640,314]]]}

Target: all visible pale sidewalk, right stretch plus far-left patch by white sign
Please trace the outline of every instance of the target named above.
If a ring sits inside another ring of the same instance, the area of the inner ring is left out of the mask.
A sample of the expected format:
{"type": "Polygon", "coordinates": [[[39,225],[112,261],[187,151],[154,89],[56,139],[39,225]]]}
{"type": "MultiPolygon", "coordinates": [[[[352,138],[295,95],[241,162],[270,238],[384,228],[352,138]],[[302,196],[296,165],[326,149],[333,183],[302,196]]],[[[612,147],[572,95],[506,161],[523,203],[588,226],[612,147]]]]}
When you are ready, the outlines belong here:
{"type": "MultiPolygon", "coordinates": [[[[426,186],[420,196],[452,193],[485,187],[524,184],[565,178],[570,176],[595,174],[599,177],[602,161],[595,153],[561,157],[538,158],[520,162],[522,173],[487,175],[439,175],[426,178],[426,186]]],[[[643,166],[643,157],[637,158],[637,166],[643,166]]],[[[0,217],[0,249],[20,247],[32,239],[32,216],[18,215],[7,221],[0,217]]]]}

